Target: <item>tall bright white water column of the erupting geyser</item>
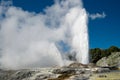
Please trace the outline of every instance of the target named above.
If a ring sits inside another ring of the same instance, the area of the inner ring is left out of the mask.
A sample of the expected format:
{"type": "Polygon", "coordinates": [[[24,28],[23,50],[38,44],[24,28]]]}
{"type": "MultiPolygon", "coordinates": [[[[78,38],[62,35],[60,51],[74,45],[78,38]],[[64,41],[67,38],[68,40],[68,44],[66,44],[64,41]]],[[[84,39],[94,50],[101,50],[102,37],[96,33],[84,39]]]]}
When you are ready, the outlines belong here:
{"type": "Polygon", "coordinates": [[[75,21],[72,26],[72,46],[76,54],[78,62],[83,64],[89,63],[89,44],[88,44],[88,30],[87,30],[87,14],[84,9],[78,9],[73,12],[76,13],[75,21]]]}

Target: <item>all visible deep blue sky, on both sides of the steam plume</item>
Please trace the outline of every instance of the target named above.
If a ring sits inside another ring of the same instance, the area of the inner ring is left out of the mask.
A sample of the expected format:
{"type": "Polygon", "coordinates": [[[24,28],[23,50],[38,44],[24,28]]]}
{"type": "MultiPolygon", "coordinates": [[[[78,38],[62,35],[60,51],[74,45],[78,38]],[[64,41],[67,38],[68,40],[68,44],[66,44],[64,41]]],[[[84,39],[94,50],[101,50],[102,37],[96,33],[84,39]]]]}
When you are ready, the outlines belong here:
{"type": "MultiPolygon", "coordinates": [[[[13,5],[31,12],[42,12],[53,0],[13,0],[13,5]]],[[[104,19],[89,19],[90,48],[120,47],[120,0],[83,0],[90,14],[105,13],[104,19]]]]}

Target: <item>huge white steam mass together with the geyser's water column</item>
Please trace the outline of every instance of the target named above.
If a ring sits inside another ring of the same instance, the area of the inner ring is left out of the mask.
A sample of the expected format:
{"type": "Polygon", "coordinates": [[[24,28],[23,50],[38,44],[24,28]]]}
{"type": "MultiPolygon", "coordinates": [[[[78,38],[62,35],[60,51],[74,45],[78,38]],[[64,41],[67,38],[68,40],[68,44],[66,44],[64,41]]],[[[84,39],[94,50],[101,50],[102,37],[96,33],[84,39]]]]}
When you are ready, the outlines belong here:
{"type": "Polygon", "coordinates": [[[0,6],[0,65],[3,68],[63,66],[60,42],[88,63],[87,14],[80,0],[56,0],[45,14],[0,6]]]}

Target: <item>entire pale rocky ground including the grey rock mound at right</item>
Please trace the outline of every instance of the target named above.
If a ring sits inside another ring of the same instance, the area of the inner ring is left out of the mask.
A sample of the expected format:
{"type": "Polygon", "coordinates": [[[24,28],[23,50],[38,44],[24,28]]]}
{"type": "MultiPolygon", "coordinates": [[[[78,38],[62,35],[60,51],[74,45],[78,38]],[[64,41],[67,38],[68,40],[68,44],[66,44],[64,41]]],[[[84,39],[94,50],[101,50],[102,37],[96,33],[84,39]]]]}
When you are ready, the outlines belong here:
{"type": "Polygon", "coordinates": [[[120,52],[100,59],[96,65],[72,63],[64,67],[21,70],[0,69],[0,80],[120,80],[120,52]]]}

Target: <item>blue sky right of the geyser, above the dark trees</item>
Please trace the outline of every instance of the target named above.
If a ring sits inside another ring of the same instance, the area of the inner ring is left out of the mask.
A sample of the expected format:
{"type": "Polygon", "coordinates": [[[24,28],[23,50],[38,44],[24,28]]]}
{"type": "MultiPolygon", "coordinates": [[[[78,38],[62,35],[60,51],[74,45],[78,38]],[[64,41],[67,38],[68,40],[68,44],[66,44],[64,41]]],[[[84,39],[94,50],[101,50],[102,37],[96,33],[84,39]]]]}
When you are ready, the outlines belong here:
{"type": "Polygon", "coordinates": [[[120,47],[120,0],[84,0],[89,13],[105,12],[104,19],[89,21],[90,47],[120,47]]]}

